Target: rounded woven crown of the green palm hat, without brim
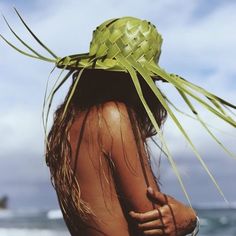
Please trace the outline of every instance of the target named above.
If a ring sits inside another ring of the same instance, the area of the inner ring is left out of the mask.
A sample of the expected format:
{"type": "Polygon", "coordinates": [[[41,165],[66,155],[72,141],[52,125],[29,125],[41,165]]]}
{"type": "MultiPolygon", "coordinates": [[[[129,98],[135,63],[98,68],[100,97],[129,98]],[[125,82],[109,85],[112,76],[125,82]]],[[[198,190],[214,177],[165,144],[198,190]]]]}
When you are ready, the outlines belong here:
{"type": "Polygon", "coordinates": [[[162,37],[156,27],[146,20],[122,17],[105,21],[93,31],[90,56],[113,59],[116,55],[136,61],[157,61],[161,52],[162,37]]]}

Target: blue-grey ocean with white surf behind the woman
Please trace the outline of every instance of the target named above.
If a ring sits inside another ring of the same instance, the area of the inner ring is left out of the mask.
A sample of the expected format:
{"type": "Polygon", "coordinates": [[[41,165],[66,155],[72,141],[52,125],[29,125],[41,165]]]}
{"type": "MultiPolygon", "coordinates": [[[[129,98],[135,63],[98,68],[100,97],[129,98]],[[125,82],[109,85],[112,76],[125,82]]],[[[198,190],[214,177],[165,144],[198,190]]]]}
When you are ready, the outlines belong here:
{"type": "MultiPolygon", "coordinates": [[[[236,209],[197,209],[199,236],[236,236],[236,209]]],[[[69,236],[59,210],[0,210],[0,236],[69,236]]],[[[112,236],[112,235],[111,235],[112,236]]]]}

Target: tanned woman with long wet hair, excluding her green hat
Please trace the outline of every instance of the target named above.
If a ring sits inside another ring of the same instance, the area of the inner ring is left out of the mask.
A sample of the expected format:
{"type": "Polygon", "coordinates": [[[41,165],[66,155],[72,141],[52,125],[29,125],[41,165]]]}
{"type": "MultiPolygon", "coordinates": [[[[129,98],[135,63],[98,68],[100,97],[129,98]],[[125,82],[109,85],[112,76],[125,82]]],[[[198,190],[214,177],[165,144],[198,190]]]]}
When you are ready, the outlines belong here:
{"type": "MultiPolygon", "coordinates": [[[[78,72],[73,75],[65,102],[55,113],[47,151],[47,163],[71,234],[136,236],[148,230],[153,235],[192,232],[196,216],[187,207],[177,213],[178,218],[182,215],[178,225],[174,225],[176,216],[171,211],[165,214],[170,219],[174,217],[173,221],[163,222],[159,215],[157,225],[139,227],[128,214],[158,209],[165,201],[151,202],[146,194],[147,186],[159,191],[146,146],[146,139],[156,131],[129,75],[84,71],[62,118],[77,76],[78,72]]],[[[167,113],[145,82],[139,80],[161,127],[167,113]]]]}

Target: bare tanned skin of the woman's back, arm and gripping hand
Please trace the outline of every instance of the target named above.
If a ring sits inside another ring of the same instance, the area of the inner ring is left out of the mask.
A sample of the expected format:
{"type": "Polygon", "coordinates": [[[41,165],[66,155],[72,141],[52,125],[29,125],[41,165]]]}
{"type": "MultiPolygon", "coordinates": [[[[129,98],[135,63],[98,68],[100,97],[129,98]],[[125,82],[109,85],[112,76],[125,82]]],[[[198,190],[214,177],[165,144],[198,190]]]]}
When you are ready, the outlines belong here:
{"type": "MultiPolygon", "coordinates": [[[[153,189],[153,193],[147,194],[126,106],[107,102],[102,105],[101,112],[103,119],[98,122],[97,108],[90,109],[77,156],[78,134],[86,112],[79,113],[69,132],[72,165],[76,166],[81,198],[89,203],[96,215],[81,230],[81,236],[176,235],[170,208],[157,194],[158,187],[146,158],[145,172],[153,189]],[[101,155],[101,147],[110,159],[101,155]],[[161,217],[153,208],[153,202],[161,217]],[[164,226],[160,225],[160,219],[164,226]]],[[[194,224],[189,222],[195,220],[194,211],[169,196],[168,203],[176,219],[177,235],[191,232],[194,224]]]]}

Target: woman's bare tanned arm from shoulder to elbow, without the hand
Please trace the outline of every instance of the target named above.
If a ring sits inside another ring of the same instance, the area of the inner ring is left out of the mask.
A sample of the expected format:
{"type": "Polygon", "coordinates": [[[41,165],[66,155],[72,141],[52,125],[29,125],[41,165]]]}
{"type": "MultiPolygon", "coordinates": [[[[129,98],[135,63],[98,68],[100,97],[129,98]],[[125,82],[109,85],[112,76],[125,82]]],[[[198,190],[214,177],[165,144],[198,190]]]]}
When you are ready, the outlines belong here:
{"type": "Polygon", "coordinates": [[[102,114],[104,130],[109,131],[109,134],[104,130],[102,132],[103,145],[114,163],[121,197],[130,208],[127,212],[131,209],[137,212],[153,210],[153,203],[147,197],[146,189],[149,185],[157,190],[157,185],[142,142],[140,156],[126,106],[119,102],[108,102],[103,105],[102,114]]]}

